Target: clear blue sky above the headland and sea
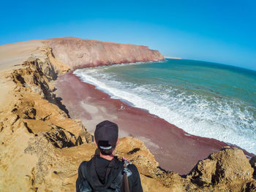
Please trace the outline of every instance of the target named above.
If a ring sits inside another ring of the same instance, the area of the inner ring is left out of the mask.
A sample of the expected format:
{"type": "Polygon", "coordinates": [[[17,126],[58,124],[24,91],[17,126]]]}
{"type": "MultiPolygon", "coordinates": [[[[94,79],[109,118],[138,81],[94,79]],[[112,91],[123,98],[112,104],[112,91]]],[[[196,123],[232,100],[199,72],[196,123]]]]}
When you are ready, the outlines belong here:
{"type": "Polygon", "coordinates": [[[80,37],[256,70],[256,1],[2,1],[0,45],[80,37]]]}

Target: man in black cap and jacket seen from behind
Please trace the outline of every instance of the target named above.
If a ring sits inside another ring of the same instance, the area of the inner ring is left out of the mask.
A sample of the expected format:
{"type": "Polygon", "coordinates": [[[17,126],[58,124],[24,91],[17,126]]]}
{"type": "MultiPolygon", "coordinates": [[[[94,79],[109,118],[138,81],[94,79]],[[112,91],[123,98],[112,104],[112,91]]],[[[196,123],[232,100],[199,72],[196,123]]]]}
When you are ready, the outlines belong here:
{"type": "Polygon", "coordinates": [[[118,144],[116,123],[108,120],[99,123],[94,132],[94,142],[99,149],[99,155],[94,155],[90,161],[83,161],[80,164],[76,182],[77,192],[143,191],[136,166],[124,158],[123,161],[118,161],[115,156],[118,144]]]}

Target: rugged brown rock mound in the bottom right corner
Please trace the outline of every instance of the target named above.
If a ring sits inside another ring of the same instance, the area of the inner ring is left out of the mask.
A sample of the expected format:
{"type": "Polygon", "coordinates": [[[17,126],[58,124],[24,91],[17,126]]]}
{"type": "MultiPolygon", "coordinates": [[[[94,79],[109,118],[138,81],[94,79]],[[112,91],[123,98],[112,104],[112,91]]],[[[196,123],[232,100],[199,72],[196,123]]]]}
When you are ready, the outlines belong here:
{"type": "Polygon", "coordinates": [[[253,171],[242,150],[223,147],[199,161],[187,178],[202,187],[215,186],[227,191],[241,191],[246,183],[252,182],[253,171]]]}

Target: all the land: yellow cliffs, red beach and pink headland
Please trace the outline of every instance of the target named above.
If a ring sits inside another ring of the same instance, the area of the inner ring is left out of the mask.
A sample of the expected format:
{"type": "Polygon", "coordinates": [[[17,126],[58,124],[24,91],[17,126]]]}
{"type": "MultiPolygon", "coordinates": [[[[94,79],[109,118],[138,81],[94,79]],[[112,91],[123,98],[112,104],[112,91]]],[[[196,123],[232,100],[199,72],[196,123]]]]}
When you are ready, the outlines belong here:
{"type": "Polygon", "coordinates": [[[144,191],[255,191],[253,154],[188,136],[72,74],[163,59],[142,45],[74,37],[1,45],[0,191],[75,191],[79,164],[96,150],[94,126],[105,119],[118,123],[117,155],[138,166],[144,191]]]}

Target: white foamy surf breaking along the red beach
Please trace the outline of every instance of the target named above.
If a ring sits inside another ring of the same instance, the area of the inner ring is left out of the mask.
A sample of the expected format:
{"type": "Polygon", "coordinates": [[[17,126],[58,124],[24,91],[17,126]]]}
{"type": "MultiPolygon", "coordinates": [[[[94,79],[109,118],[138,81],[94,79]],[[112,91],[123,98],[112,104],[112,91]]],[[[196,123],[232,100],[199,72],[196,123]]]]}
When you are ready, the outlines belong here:
{"type": "Polygon", "coordinates": [[[180,93],[172,87],[118,82],[113,80],[113,74],[101,73],[108,67],[78,69],[74,74],[113,99],[148,110],[189,134],[218,139],[256,154],[255,119],[246,107],[241,110],[237,101],[219,98],[209,101],[195,94],[180,93]]]}

